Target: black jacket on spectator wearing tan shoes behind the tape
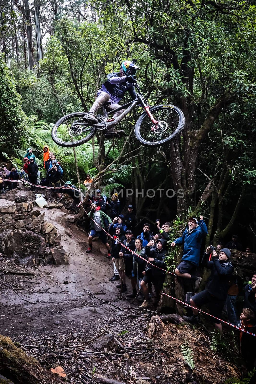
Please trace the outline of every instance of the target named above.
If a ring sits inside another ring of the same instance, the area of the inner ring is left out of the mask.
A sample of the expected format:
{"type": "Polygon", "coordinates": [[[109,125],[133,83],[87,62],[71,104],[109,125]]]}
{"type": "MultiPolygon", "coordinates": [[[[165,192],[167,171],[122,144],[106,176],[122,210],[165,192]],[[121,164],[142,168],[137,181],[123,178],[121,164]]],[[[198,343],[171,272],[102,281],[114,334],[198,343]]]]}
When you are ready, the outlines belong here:
{"type": "MultiPolygon", "coordinates": [[[[160,251],[158,251],[157,248],[150,248],[147,246],[146,247],[146,255],[148,258],[149,257],[154,258],[154,262],[152,262],[152,264],[159,266],[160,268],[166,269],[166,263],[165,263],[166,240],[160,239],[158,241],[160,241],[162,243],[163,248],[160,251]]],[[[149,264],[147,266],[147,269],[146,269],[146,274],[150,270],[151,270],[153,278],[163,278],[165,276],[165,271],[162,271],[158,268],[155,268],[154,266],[149,264]]]]}

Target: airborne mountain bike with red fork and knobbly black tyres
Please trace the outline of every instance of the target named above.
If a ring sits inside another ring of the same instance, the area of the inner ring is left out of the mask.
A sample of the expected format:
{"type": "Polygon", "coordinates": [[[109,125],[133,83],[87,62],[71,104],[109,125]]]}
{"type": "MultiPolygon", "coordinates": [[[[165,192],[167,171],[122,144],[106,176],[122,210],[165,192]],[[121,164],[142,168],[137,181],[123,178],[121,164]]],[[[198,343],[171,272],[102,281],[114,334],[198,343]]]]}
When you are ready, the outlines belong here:
{"type": "MultiPolygon", "coordinates": [[[[97,124],[86,121],[85,112],[70,113],[59,119],[53,126],[51,137],[53,141],[61,147],[76,147],[84,144],[92,139],[92,137],[102,132],[107,135],[110,128],[117,126],[127,114],[134,108],[142,107],[144,111],[137,120],[134,132],[136,138],[144,145],[156,146],[165,144],[176,137],[183,129],[185,118],[183,112],[176,106],[170,104],[162,104],[150,107],[140,92],[136,79],[134,79],[134,88],[136,99],[107,112],[106,103],[102,110],[102,115],[97,115],[97,124]],[[124,109],[117,118],[111,119],[109,115],[124,109]]],[[[118,131],[117,131],[118,132],[118,131]]]]}

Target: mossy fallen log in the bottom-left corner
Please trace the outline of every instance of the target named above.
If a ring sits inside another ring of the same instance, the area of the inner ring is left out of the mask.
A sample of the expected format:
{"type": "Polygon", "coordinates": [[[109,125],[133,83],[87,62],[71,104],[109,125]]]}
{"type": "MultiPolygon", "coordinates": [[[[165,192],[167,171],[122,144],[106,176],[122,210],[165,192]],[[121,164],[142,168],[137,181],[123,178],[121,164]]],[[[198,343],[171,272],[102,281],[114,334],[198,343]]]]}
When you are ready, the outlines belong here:
{"type": "Polygon", "coordinates": [[[0,335],[0,374],[15,384],[64,384],[40,366],[39,362],[17,348],[7,336],[0,335]]]}

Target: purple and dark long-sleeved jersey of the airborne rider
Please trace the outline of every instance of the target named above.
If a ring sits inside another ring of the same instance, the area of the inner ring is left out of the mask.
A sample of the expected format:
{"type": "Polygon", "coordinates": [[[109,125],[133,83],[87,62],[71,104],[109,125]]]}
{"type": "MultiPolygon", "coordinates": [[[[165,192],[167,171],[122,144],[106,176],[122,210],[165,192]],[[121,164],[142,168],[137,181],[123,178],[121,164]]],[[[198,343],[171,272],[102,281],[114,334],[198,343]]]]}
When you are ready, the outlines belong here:
{"type": "Polygon", "coordinates": [[[108,81],[102,84],[97,96],[99,96],[101,92],[107,92],[110,95],[109,101],[117,104],[124,97],[126,91],[129,92],[132,99],[137,97],[133,84],[126,81],[126,76],[121,76],[120,73],[109,73],[107,75],[107,80],[108,81]]]}

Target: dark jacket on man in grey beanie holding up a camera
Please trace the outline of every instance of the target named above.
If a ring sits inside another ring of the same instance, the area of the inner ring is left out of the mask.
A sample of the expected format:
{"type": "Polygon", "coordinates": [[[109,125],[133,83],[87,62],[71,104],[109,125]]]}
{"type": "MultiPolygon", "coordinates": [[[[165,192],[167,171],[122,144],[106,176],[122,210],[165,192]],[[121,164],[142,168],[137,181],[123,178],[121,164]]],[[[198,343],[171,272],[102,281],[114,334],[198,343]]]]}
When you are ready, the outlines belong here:
{"type": "Polygon", "coordinates": [[[207,256],[204,257],[204,262],[202,263],[211,270],[206,289],[219,300],[226,300],[230,287],[230,278],[234,270],[233,265],[228,260],[220,262],[218,257],[213,257],[213,261],[207,261],[207,256]]]}

